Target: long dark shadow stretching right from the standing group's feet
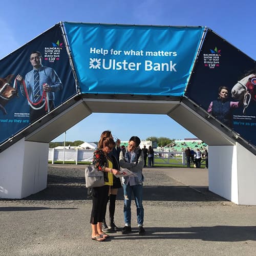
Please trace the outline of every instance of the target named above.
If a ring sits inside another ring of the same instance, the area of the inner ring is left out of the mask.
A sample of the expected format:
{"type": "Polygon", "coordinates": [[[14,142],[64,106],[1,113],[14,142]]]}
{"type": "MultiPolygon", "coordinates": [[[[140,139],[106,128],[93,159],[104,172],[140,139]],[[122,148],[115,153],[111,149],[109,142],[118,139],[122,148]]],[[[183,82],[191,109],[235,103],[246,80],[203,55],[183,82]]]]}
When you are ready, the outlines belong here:
{"type": "Polygon", "coordinates": [[[126,241],[138,239],[197,239],[218,242],[256,241],[256,226],[145,227],[145,231],[144,236],[139,236],[136,231],[125,236],[114,236],[114,239],[126,241]]]}

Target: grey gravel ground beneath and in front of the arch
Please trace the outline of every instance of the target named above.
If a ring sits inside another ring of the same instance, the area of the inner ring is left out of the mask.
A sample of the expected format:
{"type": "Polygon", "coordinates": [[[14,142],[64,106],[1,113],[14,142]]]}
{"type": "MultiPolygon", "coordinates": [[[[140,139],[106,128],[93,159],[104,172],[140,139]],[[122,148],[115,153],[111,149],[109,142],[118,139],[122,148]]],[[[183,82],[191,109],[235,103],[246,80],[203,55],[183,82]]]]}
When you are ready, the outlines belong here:
{"type": "MultiPolygon", "coordinates": [[[[21,200],[0,200],[1,256],[255,255],[256,206],[233,204],[207,186],[183,184],[168,168],[143,170],[145,236],[138,236],[133,203],[132,233],[92,241],[85,167],[49,165],[46,189],[21,200]]],[[[122,189],[115,222],[123,226],[122,189]]]]}

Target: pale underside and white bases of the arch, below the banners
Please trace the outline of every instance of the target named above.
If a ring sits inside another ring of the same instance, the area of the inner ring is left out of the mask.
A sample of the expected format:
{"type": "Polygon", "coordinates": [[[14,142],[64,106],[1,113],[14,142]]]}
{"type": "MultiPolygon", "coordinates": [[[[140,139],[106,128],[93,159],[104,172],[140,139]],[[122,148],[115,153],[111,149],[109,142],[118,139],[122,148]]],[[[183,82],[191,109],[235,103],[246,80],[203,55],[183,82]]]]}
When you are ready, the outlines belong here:
{"type": "Polygon", "coordinates": [[[46,188],[49,150],[46,141],[51,141],[91,113],[168,115],[208,144],[209,190],[237,204],[255,204],[253,154],[212,126],[195,110],[189,109],[186,103],[174,99],[81,98],[71,108],[0,154],[1,169],[6,170],[2,179],[7,180],[5,187],[1,187],[1,197],[23,198],[46,188]],[[21,152],[25,154],[20,156],[21,152]],[[13,155],[16,156],[15,161],[13,155]]]}

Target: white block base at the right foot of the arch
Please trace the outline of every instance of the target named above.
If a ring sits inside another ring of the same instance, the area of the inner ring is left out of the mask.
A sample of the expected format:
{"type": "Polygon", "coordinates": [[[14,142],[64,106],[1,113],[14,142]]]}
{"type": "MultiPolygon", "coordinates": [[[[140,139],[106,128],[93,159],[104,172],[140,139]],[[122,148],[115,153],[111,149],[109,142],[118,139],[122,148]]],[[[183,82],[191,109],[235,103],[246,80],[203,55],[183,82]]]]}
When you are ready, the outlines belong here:
{"type": "Polygon", "coordinates": [[[236,204],[256,205],[256,156],[239,143],[208,150],[209,190],[236,204]]]}

